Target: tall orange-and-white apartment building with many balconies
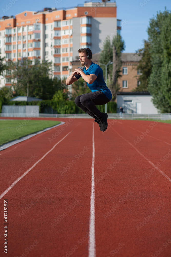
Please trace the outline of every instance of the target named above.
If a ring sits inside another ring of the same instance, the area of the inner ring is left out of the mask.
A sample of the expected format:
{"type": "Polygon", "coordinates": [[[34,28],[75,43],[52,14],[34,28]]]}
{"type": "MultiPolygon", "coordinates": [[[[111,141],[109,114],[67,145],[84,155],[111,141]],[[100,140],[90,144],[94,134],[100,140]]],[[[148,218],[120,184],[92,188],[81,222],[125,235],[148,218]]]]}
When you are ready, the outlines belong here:
{"type": "MultiPolygon", "coordinates": [[[[22,58],[49,60],[54,76],[67,77],[71,62],[79,58],[79,48],[99,53],[106,36],[120,33],[116,8],[112,1],[86,2],[65,10],[44,8],[4,16],[0,19],[0,56],[13,62],[22,58]]],[[[11,86],[11,82],[9,73],[1,76],[0,87],[11,86]]]]}

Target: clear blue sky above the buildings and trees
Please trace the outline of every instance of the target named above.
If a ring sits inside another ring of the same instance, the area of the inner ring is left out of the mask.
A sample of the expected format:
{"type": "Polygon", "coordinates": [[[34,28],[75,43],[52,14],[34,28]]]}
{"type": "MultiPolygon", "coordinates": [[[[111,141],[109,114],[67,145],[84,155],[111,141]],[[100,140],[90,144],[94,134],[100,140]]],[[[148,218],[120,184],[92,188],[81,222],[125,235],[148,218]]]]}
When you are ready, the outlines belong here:
{"type": "MultiPolygon", "coordinates": [[[[83,3],[84,0],[3,0],[0,3],[0,17],[16,15],[23,11],[38,11],[44,7],[69,8],[83,3]],[[9,3],[12,3],[12,6],[4,13],[3,9],[9,3]]],[[[125,53],[133,53],[143,47],[143,39],[148,38],[149,20],[156,16],[157,11],[163,12],[165,6],[171,10],[170,0],[116,0],[116,5],[117,18],[126,23],[121,31],[126,46],[125,53]]]]}

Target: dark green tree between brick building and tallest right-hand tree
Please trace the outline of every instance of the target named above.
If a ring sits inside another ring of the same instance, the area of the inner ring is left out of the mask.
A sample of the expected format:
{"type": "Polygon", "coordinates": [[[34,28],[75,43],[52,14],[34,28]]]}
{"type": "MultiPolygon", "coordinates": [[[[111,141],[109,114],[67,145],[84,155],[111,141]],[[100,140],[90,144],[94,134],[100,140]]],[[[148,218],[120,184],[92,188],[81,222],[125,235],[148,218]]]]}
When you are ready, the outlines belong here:
{"type": "Polygon", "coordinates": [[[150,43],[147,40],[144,40],[144,47],[142,49],[138,49],[137,54],[142,57],[137,66],[137,70],[140,70],[142,73],[138,78],[141,84],[132,91],[148,92],[148,81],[152,71],[152,64],[150,54],[150,43]]]}

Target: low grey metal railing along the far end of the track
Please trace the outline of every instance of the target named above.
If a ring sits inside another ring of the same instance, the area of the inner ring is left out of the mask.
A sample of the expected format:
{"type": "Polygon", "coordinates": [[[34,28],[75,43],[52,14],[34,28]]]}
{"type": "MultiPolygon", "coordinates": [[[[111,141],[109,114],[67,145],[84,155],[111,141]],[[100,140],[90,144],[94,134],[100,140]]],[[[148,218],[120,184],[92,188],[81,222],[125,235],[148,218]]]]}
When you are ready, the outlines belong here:
{"type": "MultiPolygon", "coordinates": [[[[48,114],[48,113],[0,113],[0,117],[40,117],[40,118],[91,118],[87,113],[80,114],[48,114]]],[[[109,119],[156,119],[156,120],[171,120],[171,113],[159,114],[137,114],[137,113],[108,113],[109,119]]]]}

